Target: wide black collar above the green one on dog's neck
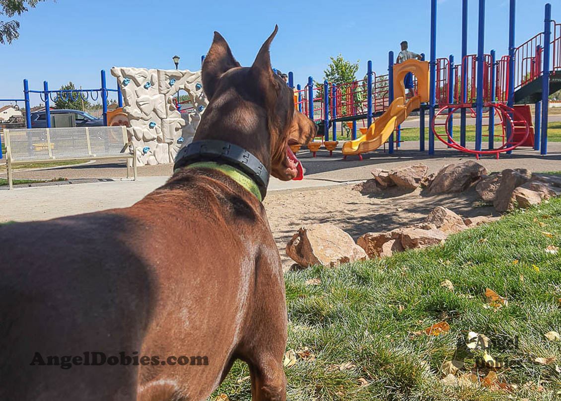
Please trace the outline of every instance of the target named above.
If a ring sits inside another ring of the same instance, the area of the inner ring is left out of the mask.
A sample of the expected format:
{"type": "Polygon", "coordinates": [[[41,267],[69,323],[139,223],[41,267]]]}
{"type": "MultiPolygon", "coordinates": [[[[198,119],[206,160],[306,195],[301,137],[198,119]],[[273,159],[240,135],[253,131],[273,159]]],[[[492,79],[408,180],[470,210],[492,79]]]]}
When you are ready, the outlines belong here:
{"type": "Polygon", "coordinates": [[[255,181],[261,197],[265,198],[269,185],[269,172],[258,158],[242,147],[223,140],[191,142],[177,153],[173,171],[200,161],[221,162],[238,168],[255,181]]]}

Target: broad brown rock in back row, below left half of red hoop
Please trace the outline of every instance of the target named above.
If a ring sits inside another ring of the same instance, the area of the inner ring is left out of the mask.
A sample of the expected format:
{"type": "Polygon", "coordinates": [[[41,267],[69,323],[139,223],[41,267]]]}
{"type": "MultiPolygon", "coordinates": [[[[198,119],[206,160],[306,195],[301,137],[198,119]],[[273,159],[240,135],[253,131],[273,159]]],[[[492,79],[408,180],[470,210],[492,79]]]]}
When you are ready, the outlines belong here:
{"type": "Polygon", "coordinates": [[[429,192],[431,194],[463,192],[482,175],[487,174],[487,169],[474,161],[444,166],[430,184],[429,192]]]}

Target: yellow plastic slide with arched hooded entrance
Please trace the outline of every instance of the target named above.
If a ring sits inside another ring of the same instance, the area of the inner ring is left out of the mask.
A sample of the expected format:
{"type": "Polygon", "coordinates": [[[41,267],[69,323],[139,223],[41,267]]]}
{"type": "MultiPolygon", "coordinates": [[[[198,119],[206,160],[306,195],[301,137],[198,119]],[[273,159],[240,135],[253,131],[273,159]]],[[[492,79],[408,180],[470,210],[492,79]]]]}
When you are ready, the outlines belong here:
{"type": "Polygon", "coordinates": [[[396,127],[401,124],[407,116],[421,103],[429,100],[429,63],[426,61],[407,60],[393,67],[394,101],[388,110],[373,122],[364,135],[356,140],[343,144],[343,154],[350,156],[371,152],[378,149],[392,135],[396,127]],[[405,103],[405,86],[403,79],[407,72],[413,72],[417,77],[417,96],[412,97],[405,103]]]}

